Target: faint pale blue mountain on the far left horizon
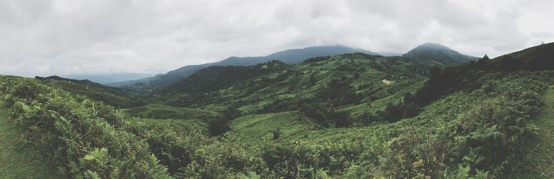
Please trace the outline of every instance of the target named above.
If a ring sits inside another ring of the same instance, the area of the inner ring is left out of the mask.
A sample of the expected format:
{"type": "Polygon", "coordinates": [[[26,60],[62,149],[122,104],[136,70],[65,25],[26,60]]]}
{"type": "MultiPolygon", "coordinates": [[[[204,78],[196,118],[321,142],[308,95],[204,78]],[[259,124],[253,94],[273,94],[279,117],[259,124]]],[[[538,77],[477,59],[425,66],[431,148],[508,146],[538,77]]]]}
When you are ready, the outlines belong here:
{"type": "Polygon", "coordinates": [[[123,82],[133,79],[142,79],[151,77],[152,74],[146,73],[117,73],[117,74],[99,74],[99,75],[63,75],[63,77],[71,79],[89,79],[91,82],[100,84],[109,84],[114,82],[123,82]]]}

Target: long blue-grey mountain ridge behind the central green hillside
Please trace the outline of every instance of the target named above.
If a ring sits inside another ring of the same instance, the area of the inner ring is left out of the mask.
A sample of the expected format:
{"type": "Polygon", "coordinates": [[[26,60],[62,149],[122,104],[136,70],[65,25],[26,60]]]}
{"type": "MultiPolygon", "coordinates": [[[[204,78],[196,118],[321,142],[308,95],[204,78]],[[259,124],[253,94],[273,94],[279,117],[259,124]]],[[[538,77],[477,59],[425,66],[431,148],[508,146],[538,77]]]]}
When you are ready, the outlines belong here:
{"type": "Polygon", "coordinates": [[[379,55],[361,48],[349,48],[346,46],[313,46],[301,49],[284,50],[265,57],[229,57],[221,62],[183,66],[163,75],[156,75],[154,77],[147,77],[127,82],[118,82],[108,85],[129,86],[135,89],[150,90],[154,88],[162,88],[172,83],[179,82],[180,80],[193,75],[193,73],[196,73],[198,70],[202,70],[208,66],[250,66],[263,62],[269,62],[274,59],[278,59],[280,62],[285,62],[286,64],[297,64],[312,57],[342,55],[345,53],[366,53],[368,55],[379,55]]]}

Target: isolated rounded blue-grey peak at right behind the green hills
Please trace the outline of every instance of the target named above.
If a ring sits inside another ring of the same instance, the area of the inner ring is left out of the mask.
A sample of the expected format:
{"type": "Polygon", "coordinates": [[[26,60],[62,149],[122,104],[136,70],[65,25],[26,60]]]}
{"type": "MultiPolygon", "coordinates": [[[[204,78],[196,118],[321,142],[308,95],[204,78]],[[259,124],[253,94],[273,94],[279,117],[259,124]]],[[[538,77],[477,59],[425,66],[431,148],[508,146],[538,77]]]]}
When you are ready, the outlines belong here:
{"type": "Polygon", "coordinates": [[[402,55],[423,62],[438,62],[442,66],[457,66],[479,58],[461,53],[441,44],[426,43],[402,55]]]}

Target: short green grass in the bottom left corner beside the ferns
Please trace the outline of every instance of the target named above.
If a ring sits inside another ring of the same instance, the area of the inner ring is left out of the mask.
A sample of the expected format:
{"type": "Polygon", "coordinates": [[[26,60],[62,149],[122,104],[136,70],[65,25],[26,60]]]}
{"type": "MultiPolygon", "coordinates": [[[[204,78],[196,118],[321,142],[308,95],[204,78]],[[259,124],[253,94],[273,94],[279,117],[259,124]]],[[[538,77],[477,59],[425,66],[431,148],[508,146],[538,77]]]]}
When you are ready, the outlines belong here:
{"type": "Polygon", "coordinates": [[[55,169],[44,160],[34,146],[18,141],[21,128],[8,122],[10,109],[0,102],[0,178],[56,178],[55,169]]]}

